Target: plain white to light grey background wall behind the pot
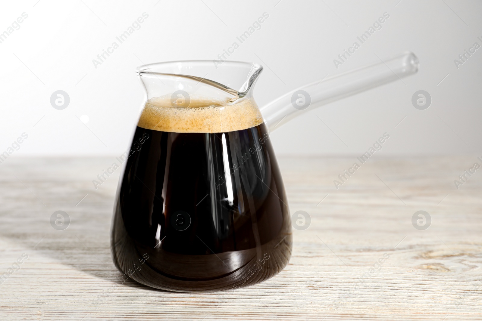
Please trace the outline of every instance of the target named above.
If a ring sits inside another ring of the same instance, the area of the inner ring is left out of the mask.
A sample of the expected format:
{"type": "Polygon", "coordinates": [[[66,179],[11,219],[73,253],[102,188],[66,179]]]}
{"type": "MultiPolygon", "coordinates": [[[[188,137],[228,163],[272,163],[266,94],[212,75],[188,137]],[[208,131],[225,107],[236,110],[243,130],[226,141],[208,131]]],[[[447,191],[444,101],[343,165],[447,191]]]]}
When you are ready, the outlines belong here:
{"type": "Polygon", "coordinates": [[[28,138],[11,157],[122,153],[144,97],[136,66],[217,59],[265,12],[261,29],[230,57],[265,66],[254,91],[260,106],[326,74],[378,63],[376,55],[413,51],[420,60],[419,73],[403,82],[311,110],[277,129],[271,137],[278,154],[361,154],[384,132],[390,139],[379,154],[481,149],[482,49],[459,69],[454,59],[474,42],[482,45],[482,1],[82,1],[3,4],[0,32],[23,12],[28,18],[0,43],[0,153],[23,132],[28,138]],[[95,68],[97,54],[144,12],[141,28],[95,68]],[[336,69],[338,54],[384,12],[390,17],[382,29],[336,69]],[[55,90],[69,94],[66,109],[51,106],[55,90]],[[417,90],[430,93],[427,110],[413,107],[417,90]]]}

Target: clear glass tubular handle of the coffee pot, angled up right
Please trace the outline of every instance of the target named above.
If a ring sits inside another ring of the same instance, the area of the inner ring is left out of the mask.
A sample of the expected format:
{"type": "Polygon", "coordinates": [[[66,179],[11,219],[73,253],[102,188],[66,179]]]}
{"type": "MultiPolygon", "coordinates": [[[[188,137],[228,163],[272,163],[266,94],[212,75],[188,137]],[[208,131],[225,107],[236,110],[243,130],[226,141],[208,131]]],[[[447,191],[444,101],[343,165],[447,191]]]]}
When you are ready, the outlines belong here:
{"type": "Polygon", "coordinates": [[[418,65],[415,54],[405,52],[378,64],[301,86],[263,106],[261,114],[273,131],[310,109],[415,74],[418,65]]]}

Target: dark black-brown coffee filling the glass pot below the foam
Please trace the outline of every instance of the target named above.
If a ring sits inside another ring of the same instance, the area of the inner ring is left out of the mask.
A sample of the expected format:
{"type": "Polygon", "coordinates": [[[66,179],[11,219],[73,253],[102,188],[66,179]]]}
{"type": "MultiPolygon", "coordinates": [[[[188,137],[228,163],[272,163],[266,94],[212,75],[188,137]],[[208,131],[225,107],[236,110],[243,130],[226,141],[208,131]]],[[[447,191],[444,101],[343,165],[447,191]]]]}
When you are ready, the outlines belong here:
{"type": "Polygon", "coordinates": [[[207,292],[264,281],[291,256],[291,221],[264,124],[225,133],[137,127],[112,253],[142,284],[207,292]],[[139,144],[141,142],[142,144],[139,144]]]}

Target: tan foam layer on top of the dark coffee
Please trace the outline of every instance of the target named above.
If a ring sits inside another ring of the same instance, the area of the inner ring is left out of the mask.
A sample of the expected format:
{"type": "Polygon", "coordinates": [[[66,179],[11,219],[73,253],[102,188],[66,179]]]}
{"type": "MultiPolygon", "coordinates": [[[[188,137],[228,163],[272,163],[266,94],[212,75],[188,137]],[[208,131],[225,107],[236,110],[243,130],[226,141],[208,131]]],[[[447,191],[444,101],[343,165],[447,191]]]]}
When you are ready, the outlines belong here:
{"type": "Polygon", "coordinates": [[[228,105],[206,97],[192,97],[189,107],[173,107],[171,96],[151,98],[137,126],[175,133],[220,133],[263,123],[253,98],[228,105]]]}

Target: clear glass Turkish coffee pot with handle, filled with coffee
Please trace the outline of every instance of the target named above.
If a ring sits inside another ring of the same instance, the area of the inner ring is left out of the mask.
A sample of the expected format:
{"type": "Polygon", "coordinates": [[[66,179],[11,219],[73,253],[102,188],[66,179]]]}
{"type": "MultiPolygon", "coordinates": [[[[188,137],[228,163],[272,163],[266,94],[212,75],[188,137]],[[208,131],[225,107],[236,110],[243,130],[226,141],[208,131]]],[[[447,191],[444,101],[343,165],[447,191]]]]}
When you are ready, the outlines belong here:
{"type": "Polygon", "coordinates": [[[168,291],[210,292],[279,273],[291,219],[269,132],[308,110],[415,73],[405,53],[293,90],[261,109],[259,64],[140,66],[147,93],[121,174],[111,248],[117,268],[168,291]]]}

